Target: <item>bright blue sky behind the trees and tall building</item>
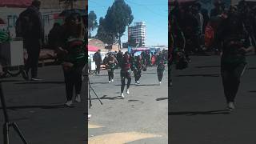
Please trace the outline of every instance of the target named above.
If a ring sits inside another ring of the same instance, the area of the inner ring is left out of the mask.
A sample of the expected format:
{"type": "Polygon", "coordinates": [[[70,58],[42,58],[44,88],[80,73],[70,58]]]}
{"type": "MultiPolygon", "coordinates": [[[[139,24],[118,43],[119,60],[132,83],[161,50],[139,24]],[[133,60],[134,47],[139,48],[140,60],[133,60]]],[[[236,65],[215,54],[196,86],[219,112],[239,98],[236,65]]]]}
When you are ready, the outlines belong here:
{"type": "MultiPolygon", "coordinates": [[[[88,0],[88,12],[94,10],[97,19],[105,17],[114,0],[88,0]]],[[[146,22],[146,46],[168,45],[168,0],[125,0],[134,15],[134,22],[146,22]]],[[[97,20],[97,21],[98,21],[97,20]]],[[[133,24],[132,23],[132,24],[133,24]]],[[[95,35],[94,30],[92,35],[95,35]]],[[[122,42],[127,42],[127,30],[122,42]]]]}

